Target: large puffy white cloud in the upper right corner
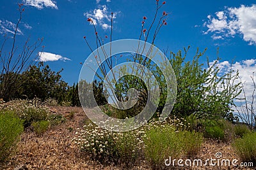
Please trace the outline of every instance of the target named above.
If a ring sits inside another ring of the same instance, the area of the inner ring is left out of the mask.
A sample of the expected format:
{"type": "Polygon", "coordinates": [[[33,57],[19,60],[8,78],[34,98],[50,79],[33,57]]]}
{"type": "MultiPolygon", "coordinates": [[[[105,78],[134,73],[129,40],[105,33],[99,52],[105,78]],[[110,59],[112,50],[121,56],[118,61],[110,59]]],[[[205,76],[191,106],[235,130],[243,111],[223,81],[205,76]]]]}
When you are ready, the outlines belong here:
{"type": "Polygon", "coordinates": [[[207,31],[204,34],[213,34],[213,39],[234,37],[241,34],[249,45],[256,45],[256,4],[252,6],[241,5],[239,8],[226,8],[218,11],[204,23],[207,31]]]}

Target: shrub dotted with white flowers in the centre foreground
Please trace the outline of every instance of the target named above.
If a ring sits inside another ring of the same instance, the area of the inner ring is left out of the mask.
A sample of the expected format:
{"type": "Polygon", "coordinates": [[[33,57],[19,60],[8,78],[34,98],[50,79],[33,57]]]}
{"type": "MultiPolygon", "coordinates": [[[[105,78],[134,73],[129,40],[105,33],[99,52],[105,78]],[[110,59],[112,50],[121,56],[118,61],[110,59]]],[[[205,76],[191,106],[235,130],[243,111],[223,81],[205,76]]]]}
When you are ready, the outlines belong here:
{"type": "Polygon", "coordinates": [[[103,164],[125,164],[131,166],[140,155],[143,147],[144,131],[111,132],[92,124],[77,129],[76,138],[72,139],[82,152],[91,159],[103,164]]]}

